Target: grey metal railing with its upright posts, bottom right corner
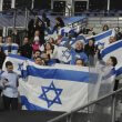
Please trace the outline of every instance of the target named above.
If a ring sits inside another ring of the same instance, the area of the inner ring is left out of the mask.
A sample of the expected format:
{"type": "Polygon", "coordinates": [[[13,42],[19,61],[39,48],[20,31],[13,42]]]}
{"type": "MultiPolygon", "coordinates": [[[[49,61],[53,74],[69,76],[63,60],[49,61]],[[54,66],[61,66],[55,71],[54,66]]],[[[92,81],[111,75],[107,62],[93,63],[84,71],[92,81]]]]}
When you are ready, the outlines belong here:
{"type": "MultiPolygon", "coordinates": [[[[116,91],[113,91],[112,93],[110,93],[110,94],[106,94],[106,95],[104,95],[104,96],[102,96],[102,98],[100,98],[100,99],[98,99],[98,100],[94,100],[94,101],[91,101],[91,102],[89,102],[88,104],[84,104],[83,106],[80,106],[80,108],[77,108],[77,109],[74,109],[74,110],[72,110],[72,111],[70,111],[70,112],[68,112],[68,113],[64,113],[64,114],[62,114],[62,115],[60,115],[60,116],[58,116],[58,118],[54,118],[54,119],[52,119],[52,120],[50,120],[50,121],[48,121],[48,122],[59,122],[59,121],[61,121],[62,119],[67,119],[67,122],[71,122],[71,118],[72,118],[72,114],[73,113],[75,113],[75,112],[81,112],[82,110],[84,110],[84,109],[89,109],[89,106],[91,106],[91,105],[94,105],[94,104],[100,104],[100,102],[102,101],[104,101],[104,100],[106,100],[106,99],[110,99],[111,98],[111,119],[110,119],[110,121],[105,121],[104,119],[103,119],[103,121],[101,121],[101,122],[115,122],[115,103],[116,103],[116,95],[120,93],[120,92],[122,92],[122,89],[119,89],[119,90],[116,90],[116,91]]],[[[91,113],[93,112],[93,111],[90,111],[91,113]]],[[[92,120],[92,121],[90,121],[90,120],[88,120],[88,121],[85,121],[85,122],[95,122],[96,120],[92,120]]],[[[82,122],[84,122],[84,121],[82,121],[82,122]]],[[[96,121],[96,122],[100,122],[100,121],[96,121]]]]}

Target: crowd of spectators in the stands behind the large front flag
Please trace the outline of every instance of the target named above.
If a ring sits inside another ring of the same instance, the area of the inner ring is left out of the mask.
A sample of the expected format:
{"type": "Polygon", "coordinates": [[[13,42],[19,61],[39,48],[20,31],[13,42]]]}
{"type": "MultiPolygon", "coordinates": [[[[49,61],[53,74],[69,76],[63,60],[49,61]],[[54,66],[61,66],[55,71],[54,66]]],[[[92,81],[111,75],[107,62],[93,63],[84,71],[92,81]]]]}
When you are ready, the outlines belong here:
{"type": "MultiPolygon", "coordinates": [[[[54,32],[59,32],[61,28],[64,27],[64,22],[60,17],[55,18],[55,26],[51,28],[50,19],[47,18],[45,13],[42,14],[42,20],[35,18],[35,20],[31,20],[28,26],[28,35],[24,37],[22,41],[22,45],[20,42],[14,39],[12,40],[11,35],[6,38],[3,42],[3,38],[0,37],[0,69],[2,69],[2,64],[4,59],[8,54],[18,54],[31,60],[35,61],[35,64],[39,65],[53,65],[55,63],[64,63],[58,59],[52,57],[54,50],[60,45],[61,40],[64,38],[63,35],[57,34],[57,39],[50,37],[45,40],[45,32],[49,34],[53,34],[54,32]]],[[[103,31],[109,30],[109,27],[105,24],[103,27],[103,31]]],[[[81,29],[79,32],[74,32],[74,34],[69,34],[69,40],[71,38],[77,38],[78,35],[85,33],[84,31],[95,34],[93,29],[81,29]]],[[[120,28],[115,29],[116,34],[115,37],[110,37],[109,42],[115,42],[116,40],[122,39],[122,33],[120,32],[120,28]]],[[[85,44],[82,41],[77,40],[74,48],[72,48],[69,43],[67,48],[70,51],[71,60],[67,64],[73,64],[79,67],[85,65],[94,65],[94,57],[98,55],[98,59],[101,60],[100,57],[100,49],[94,43],[94,39],[90,39],[89,42],[85,44]]],[[[115,67],[118,63],[114,57],[111,57],[106,64],[115,67]]],[[[6,63],[7,69],[12,67],[11,62],[6,63]]],[[[11,68],[12,69],[12,68],[11,68]]],[[[14,74],[17,78],[17,75],[14,74]]],[[[9,78],[8,78],[9,79],[9,78]]],[[[4,101],[7,98],[4,98],[4,101]]],[[[6,104],[7,106],[7,104],[6,104]]]]}

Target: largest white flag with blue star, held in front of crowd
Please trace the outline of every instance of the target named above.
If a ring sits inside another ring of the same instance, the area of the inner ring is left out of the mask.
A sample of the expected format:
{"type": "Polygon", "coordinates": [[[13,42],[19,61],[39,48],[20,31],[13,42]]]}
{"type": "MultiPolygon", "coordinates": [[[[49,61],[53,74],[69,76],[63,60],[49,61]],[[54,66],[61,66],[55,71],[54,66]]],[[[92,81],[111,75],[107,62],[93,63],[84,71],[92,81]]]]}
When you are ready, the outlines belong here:
{"type": "Polygon", "coordinates": [[[27,64],[27,82],[19,83],[23,109],[68,112],[88,103],[89,68],[27,64]]]}

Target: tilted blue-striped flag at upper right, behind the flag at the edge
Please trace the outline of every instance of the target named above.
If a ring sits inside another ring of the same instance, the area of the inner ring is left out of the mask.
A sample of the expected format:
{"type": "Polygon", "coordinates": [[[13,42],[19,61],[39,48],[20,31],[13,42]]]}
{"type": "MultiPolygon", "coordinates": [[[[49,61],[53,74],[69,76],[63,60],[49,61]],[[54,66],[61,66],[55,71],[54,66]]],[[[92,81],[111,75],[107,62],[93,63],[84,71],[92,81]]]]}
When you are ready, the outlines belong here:
{"type": "Polygon", "coordinates": [[[105,32],[99,33],[96,35],[90,37],[87,40],[89,41],[90,39],[94,39],[95,40],[95,44],[102,44],[102,45],[108,45],[109,44],[109,39],[110,37],[115,37],[115,30],[114,29],[110,29],[105,32]]]}

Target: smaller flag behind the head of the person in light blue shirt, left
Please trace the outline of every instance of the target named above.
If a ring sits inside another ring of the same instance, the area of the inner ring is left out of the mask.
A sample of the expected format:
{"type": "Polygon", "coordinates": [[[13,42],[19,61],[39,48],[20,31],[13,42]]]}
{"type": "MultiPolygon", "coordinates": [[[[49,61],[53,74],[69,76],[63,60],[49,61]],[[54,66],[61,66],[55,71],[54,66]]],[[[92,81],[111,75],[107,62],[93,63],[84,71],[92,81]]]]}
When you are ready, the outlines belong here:
{"type": "Polygon", "coordinates": [[[4,61],[3,67],[2,67],[2,71],[7,71],[7,69],[6,69],[6,62],[7,61],[11,61],[13,63],[13,71],[16,73],[18,73],[19,75],[21,75],[21,70],[23,68],[23,62],[26,60],[29,60],[29,59],[28,58],[20,57],[20,55],[17,55],[17,54],[9,54],[6,58],[6,61],[4,61]]]}

